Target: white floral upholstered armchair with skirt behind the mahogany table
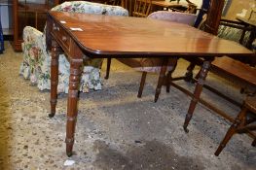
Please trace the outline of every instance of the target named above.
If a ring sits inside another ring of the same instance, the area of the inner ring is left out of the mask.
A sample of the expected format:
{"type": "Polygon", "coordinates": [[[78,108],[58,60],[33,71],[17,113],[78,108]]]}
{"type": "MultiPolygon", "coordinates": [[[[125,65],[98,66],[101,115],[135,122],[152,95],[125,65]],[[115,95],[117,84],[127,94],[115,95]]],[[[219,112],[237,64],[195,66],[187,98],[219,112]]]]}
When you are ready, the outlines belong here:
{"type": "MultiPolygon", "coordinates": [[[[87,1],[64,2],[53,11],[86,13],[106,16],[128,16],[128,11],[119,6],[91,3],[87,1]]],[[[45,33],[26,26],[23,29],[23,60],[19,74],[29,79],[31,85],[37,85],[40,90],[50,89],[51,80],[51,51],[46,50],[45,33]]],[[[90,89],[101,89],[100,67],[102,59],[91,59],[84,64],[80,90],[89,92],[90,89]]],[[[58,63],[58,92],[68,92],[69,62],[64,54],[59,55],[58,63]]]]}

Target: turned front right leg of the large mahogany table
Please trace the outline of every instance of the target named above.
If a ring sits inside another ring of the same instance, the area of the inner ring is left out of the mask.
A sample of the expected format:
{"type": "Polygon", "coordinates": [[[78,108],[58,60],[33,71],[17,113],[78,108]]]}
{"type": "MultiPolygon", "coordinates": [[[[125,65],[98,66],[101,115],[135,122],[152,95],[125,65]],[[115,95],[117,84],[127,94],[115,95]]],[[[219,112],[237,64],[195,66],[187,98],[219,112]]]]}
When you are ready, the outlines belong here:
{"type": "Polygon", "coordinates": [[[190,122],[190,119],[193,116],[196,105],[197,105],[197,103],[200,99],[202,86],[203,86],[205,78],[207,76],[208,69],[210,67],[210,62],[211,61],[209,61],[209,60],[205,60],[205,61],[203,61],[203,64],[201,66],[202,68],[201,68],[201,72],[200,72],[200,78],[199,78],[198,83],[196,85],[194,95],[193,95],[192,100],[190,102],[190,107],[189,107],[189,110],[188,110],[188,113],[186,115],[186,119],[185,119],[185,122],[184,122],[184,125],[183,125],[183,128],[184,128],[185,132],[187,132],[187,133],[189,132],[189,130],[187,128],[188,124],[190,122]]]}

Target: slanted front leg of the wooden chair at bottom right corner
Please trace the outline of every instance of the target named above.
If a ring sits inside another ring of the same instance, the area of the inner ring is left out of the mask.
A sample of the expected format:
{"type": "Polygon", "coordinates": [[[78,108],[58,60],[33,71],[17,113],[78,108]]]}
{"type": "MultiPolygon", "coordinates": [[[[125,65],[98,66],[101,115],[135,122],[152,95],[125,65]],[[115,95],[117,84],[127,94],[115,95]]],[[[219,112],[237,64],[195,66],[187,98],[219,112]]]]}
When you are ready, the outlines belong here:
{"type": "Polygon", "coordinates": [[[240,113],[238,114],[238,117],[235,119],[234,123],[229,128],[228,132],[226,133],[224,139],[220,143],[218,149],[214,153],[216,156],[218,156],[222,150],[226,147],[226,144],[230,141],[232,136],[237,132],[238,126],[240,125],[242,119],[246,116],[247,109],[242,108],[240,113]]]}

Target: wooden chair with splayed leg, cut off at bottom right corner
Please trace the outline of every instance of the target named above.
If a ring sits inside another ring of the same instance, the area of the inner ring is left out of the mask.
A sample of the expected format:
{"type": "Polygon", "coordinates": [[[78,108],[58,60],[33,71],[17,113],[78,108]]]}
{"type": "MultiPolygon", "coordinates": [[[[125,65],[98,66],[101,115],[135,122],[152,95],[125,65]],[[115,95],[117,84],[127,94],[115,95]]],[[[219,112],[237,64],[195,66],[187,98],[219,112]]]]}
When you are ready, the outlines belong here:
{"type": "MultiPolygon", "coordinates": [[[[220,143],[218,149],[214,153],[215,155],[218,156],[222,152],[222,150],[225,148],[226,144],[230,141],[234,134],[256,130],[256,125],[251,124],[252,122],[256,121],[256,117],[247,119],[247,116],[249,115],[248,113],[254,114],[254,116],[256,116],[256,96],[247,97],[244,100],[241,111],[238,113],[238,117],[230,126],[223,141],[220,143]]],[[[252,146],[256,146],[256,138],[254,138],[252,146]]]]}

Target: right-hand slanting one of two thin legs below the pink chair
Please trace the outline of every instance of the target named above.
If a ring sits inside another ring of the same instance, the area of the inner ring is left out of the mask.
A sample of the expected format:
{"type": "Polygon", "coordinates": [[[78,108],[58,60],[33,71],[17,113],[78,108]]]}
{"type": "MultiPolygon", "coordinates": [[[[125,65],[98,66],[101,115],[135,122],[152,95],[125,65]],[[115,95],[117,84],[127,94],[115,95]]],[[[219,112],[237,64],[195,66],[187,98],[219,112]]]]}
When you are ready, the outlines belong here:
{"type": "Polygon", "coordinates": [[[158,85],[157,85],[156,93],[155,93],[155,99],[154,99],[155,103],[159,99],[159,95],[161,93],[161,88],[162,88],[162,85],[164,84],[164,81],[165,81],[165,72],[166,72],[166,69],[167,69],[166,63],[167,63],[167,60],[163,59],[163,65],[161,67],[161,71],[160,71],[160,75],[159,75],[159,81],[158,81],[158,85]]]}

